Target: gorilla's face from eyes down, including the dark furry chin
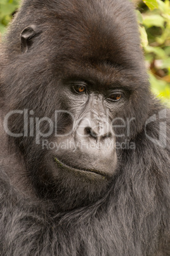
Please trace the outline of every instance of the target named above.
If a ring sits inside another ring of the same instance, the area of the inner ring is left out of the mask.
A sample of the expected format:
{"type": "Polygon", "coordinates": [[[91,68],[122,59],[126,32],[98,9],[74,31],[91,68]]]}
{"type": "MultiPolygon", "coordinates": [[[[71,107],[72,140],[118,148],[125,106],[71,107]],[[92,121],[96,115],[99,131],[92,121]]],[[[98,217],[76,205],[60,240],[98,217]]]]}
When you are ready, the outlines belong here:
{"type": "MultiPolygon", "coordinates": [[[[94,203],[107,192],[117,168],[113,113],[128,101],[129,92],[112,84],[103,89],[88,78],[65,76],[57,92],[60,109],[52,118],[56,134],[41,138],[36,152],[34,141],[25,157],[31,159],[27,166],[32,177],[35,173],[41,177],[33,178],[38,194],[43,192],[44,197],[46,189],[45,196],[56,200],[62,210],[94,203]],[[50,143],[57,149],[50,150],[50,143]],[[41,163],[32,162],[32,154],[39,155],[41,163]]],[[[27,150],[29,143],[25,141],[27,150]]]]}

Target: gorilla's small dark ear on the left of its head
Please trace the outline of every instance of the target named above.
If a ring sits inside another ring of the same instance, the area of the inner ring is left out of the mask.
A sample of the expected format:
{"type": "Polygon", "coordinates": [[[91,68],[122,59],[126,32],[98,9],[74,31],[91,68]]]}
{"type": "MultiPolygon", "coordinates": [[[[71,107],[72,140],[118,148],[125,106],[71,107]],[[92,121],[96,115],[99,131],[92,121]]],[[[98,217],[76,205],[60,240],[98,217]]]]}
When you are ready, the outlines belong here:
{"type": "Polygon", "coordinates": [[[29,25],[29,27],[25,27],[20,34],[21,51],[28,52],[30,46],[34,43],[34,39],[40,33],[41,31],[37,31],[36,25],[29,25]]]}

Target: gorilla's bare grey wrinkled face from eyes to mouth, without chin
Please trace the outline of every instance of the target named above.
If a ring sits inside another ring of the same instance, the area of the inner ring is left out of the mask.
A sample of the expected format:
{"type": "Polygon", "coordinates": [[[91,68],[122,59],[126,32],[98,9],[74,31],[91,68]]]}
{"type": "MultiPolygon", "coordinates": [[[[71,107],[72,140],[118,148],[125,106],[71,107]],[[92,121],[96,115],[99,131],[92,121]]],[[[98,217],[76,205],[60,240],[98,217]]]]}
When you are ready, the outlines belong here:
{"type": "Polygon", "coordinates": [[[68,149],[61,146],[56,162],[62,160],[65,167],[112,176],[117,160],[111,108],[121,100],[122,92],[108,89],[104,95],[89,82],[69,80],[59,95],[74,122],[69,132],[66,127],[68,135],[56,138],[59,145],[70,145],[68,149]]]}

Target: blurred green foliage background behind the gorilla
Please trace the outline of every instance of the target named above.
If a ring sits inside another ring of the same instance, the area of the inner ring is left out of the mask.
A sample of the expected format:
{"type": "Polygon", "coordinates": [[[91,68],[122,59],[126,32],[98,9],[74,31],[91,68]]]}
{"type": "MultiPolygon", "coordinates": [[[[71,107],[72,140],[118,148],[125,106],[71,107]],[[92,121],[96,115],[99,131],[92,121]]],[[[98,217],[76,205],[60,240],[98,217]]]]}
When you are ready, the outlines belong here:
{"type": "MultiPolygon", "coordinates": [[[[152,92],[170,107],[170,1],[131,0],[138,16],[152,92]]],[[[0,0],[0,40],[20,0],[0,0]]]]}

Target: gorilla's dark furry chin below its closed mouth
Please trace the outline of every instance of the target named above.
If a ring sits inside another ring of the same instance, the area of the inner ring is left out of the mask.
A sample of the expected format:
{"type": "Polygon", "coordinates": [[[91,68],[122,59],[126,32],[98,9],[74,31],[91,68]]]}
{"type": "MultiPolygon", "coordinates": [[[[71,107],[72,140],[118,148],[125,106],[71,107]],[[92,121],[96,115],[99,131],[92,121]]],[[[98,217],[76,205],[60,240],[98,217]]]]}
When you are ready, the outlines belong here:
{"type": "MultiPolygon", "coordinates": [[[[53,166],[51,166],[53,174],[49,174],[50,182],[46,184],[46,193],[43,190],[42,198],[45,194],[46,200],[53,202],[56,212],[90,206],[107,195],[113,175],[98,169],[80,168],[65,164],[56,157],[53,158],[53,166]]],[[[41,182],[39,185],[42,187],[41,182]]],[[[41,197],[40,190],[37,190],[37,194],[41,197]]]]}

